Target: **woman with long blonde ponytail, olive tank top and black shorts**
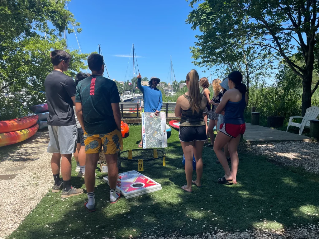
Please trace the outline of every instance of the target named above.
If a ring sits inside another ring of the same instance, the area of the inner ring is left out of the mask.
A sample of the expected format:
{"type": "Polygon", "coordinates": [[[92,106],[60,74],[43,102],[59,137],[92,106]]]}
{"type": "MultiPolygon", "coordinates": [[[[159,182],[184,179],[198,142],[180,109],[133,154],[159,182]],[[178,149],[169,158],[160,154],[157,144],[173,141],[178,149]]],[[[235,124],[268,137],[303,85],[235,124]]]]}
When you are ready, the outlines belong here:
{"type": "Polygon", "coordinates": [[[185,156],[185,174],[187,185],[182,186],[186,192],[192,192],[192,184],[201,187],[203,175],[202,151],[207,140],[203,111],[207,105],[206,97],[199,91],[199,76],[191,70],[186,76],[188,91],[177,99],[175,116],[181,117],[179,139],[185,156]],[[192,181],[193,156],[196,161],[197,179],[192,181]]]}

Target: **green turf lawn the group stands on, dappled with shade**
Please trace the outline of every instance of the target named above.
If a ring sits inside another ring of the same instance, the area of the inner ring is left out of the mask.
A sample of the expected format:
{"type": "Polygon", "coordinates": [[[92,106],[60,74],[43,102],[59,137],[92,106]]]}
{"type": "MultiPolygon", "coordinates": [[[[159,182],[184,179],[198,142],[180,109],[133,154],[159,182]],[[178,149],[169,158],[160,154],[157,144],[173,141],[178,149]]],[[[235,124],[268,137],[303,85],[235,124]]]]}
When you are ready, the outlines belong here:
{"type": "MultiPolygon", "coordinates": [[[[124,150],[137,148],[140,129],[130,127],[130,136],[123,140],[124,150]]],[[[173,232],[195,235],[215,228],[281,229],[319,220],[317,178],[270,163],[266,156],[256,156],[247,149],[245,143],[239,148],[237,185],[217,183],[223,169],[215,163],[215,153],[204,148],[203,188],[193,186],[193,193],[186,193],[181,189],[186,184],[182,148],[173,129],[164,149],[167,165],[162,166],[161,160],[144,163],[143,173],[160,183],[162,190],[109,204],[109,187],[102,181],[105,175],[97,170],[96,212],[85,210],[86,194],[62,200],[61,193],[48,192],[9,238],[122,238],[173,232]]],[[[129,170],[137,170],[137,162],[122,162],[120,172],[129,170]]],[[[73,186],[84,188],[84,180],[76,175],[72,170],[73,186]]]]}

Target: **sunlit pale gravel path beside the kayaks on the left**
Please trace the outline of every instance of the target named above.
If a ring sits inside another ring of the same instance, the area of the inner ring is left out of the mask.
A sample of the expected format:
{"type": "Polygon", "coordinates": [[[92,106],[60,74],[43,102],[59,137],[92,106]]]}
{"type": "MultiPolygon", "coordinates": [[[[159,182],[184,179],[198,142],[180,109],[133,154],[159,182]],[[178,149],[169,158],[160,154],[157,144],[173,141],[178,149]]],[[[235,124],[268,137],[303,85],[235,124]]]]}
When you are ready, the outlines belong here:
{"type": "Polygon", "coordinates": [[[48,131],[0,150],[0,238],[10,235],[52,186],[48,131]]]}

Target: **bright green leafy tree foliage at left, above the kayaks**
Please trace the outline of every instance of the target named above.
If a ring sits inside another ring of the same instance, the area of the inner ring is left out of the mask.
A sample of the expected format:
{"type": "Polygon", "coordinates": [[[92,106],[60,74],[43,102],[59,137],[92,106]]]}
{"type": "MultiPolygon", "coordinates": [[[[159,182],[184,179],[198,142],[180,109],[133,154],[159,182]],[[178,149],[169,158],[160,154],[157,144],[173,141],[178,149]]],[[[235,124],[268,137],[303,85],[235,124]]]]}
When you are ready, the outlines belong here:
{"type": "MultiPolygon", "coordinates": [[[[28,107],[46,102],[44,80],[52,70],[50,51],[63,49],[72,56],[67,75],[86,69],[88,54],[66,49],[62,32],[79,26],[64,9],[66,0],[3,0],[0,6],[0,120],[25,116],[28,107]],[[49,27],[51,26],[51,27],[49,27]],[[5,33],[5,34],[4,34],[5,33]],[[4,95],[6,94],[6,95],[4,95]]],[[[81,28],[77,29],[78,33],[81,28]]]]}

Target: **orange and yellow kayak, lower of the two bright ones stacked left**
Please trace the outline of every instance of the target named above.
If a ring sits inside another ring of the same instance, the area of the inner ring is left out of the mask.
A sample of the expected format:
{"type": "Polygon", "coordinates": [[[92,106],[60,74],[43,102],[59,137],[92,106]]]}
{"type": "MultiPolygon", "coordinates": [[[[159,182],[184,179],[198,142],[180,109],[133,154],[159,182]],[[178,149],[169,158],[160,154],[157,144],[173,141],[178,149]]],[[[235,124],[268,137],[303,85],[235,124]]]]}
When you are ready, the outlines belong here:
{"type": "Polygon", "coordinates": [[[24,141],[33,136],[38,131],[38,129],[39,125],[36,124],[35,126],[28,129],[0,134],[0,147],[24,141]]]}

